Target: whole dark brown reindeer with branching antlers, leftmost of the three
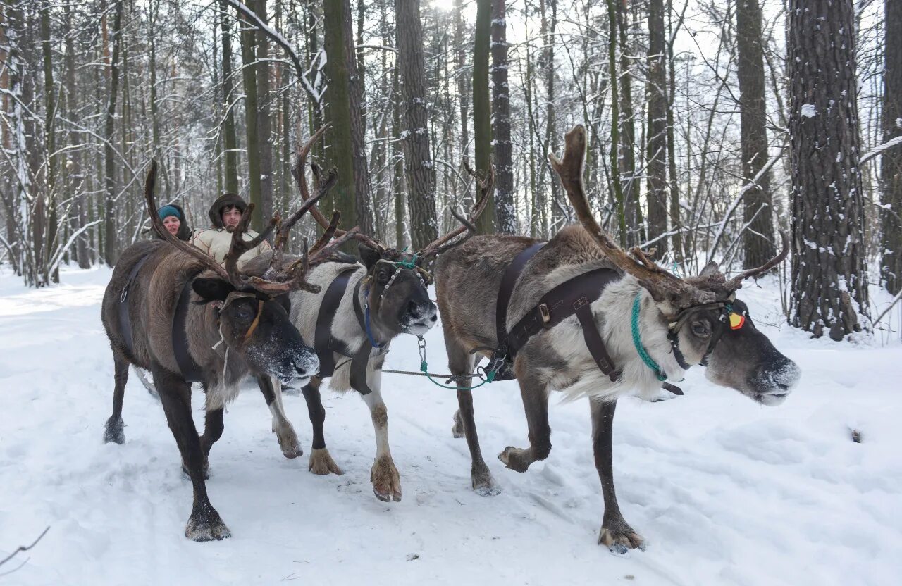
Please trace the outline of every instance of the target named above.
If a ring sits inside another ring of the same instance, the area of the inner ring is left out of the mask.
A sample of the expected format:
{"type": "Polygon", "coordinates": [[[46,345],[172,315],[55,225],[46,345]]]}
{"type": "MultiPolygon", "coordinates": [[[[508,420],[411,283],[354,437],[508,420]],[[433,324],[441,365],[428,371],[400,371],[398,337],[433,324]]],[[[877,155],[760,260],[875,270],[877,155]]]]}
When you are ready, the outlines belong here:
{"type": "Polygon", "coordinates": [[[122,444],[125,439],[122,406],[129,365],[151,371],[194,488],[185,536],[194,541],[222,539],[231,534],[207,498],[205,474],[210,448],[223,432],[223,409],[248,373],[258,380],[272,376],[305,384],[316,373],[317,355],[291,324],[280,297],[299,289],[318,290],[305,279],[310,267],[353,261],[336,252],[335,245],[354,231],[331,246],[329,233],[324,234],[302,259],[282,266],[277,261],[285,236],[325,189],[283,224],[273,218],[257,238],[244,240],[252,204],[232,235],[225,265],[219,265],[162,226],[153,200],[155,178],[152,162],[144,196],[153,228],[165,240],[129,247],[115,265],[103,300],[101,318],[115,362],[113,415],[106,422],[104,441],[122,444]],[[240,273],[238,258],[277,227],[277,254],[265,279],[240,273]],[[204,435],[199,437],[191,417],[191,380],[201,381],[207,396],[204,435]]]}

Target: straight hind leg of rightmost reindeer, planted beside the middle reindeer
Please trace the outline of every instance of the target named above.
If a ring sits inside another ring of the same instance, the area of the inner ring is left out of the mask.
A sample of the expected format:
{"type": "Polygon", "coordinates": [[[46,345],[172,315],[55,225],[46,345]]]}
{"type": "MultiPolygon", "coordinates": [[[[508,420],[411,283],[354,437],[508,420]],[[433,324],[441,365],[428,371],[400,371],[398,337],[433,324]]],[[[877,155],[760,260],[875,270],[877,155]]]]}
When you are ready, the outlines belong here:
{"type": "MultiPolygon", "coordinates": [[[[472,375],[474,367],[474,357],[467,353],[460,344],[454,340],[445,338],[446,349],[448,354],[448,368],[454,375],[472,375]]],[[[470,448],[470,459],[472,462],[470,468],[470,479],[473,482],[473,489],[477,494],[483,497],[492,497],[501,490],[495,486],[492,479],[492,472],[485,465],[483,460],[483,452],[479,447],[479,435],[476,434],[476,421],[473,417],[473,391],[461,390],[473,385],[473,377],[466,379],[457,379],[457,412],[455,413],[455,426],[451,432],[455,437],[466,437],[466,445],[470,448]],[[457,432],[460,435],[457,435],[457,432]]]]}

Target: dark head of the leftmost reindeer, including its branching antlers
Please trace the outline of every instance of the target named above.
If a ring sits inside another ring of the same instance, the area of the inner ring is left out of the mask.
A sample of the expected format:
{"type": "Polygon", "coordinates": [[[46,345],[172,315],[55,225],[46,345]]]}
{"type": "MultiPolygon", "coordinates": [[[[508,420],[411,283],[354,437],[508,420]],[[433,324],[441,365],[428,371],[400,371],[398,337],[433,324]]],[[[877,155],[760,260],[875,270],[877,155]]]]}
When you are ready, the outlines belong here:
{"type": "Polygon", "coordinates": [[[311,266],[327,261],[354,262],[353,257],[336,251],[336,247],[351,238],[356,228],[349,230],[328,244],[335,233],[338,216],[332,221],[331,232],[323,234],[308,251],[304,242],[303,256],[297,261],[284,263],[282,250],[288,240],[291,227],[298,222],[316,202],[326,195],[333,181],[320,190],[291,214],[284,223],[279,216],[272,218],[267,228],[251,240],[244,240],[253,213],[253,204],[247,206],[241,222],[232,233],[232,243],[226,254],[226,261],[220,265],[212,257],[190,243],[170,234],[155,210],[153,186],[156,179],[156,161],[151,162],[144,183],[144,198],[151,216],[153,229],[170,244],[182,252],[198,259],[207,268],[193,279],[191,288],[201,299],[201,304],[212,304],[216,318],[216,329],[221,343],[228,352],[239,357],[254,374],[269,374],[283,382],[300,380],[307,384],[319,368],[317,353],[301,339],[298,329],[291,323],[288,314],[288,293],[295,289],[317,292],[318,286],[310,285],[305,276],[311,266]],[[277,230],[270,267],[262,277],[242,274],[238,270],[238,259],[244,252],[252,250],[277,230]]]}

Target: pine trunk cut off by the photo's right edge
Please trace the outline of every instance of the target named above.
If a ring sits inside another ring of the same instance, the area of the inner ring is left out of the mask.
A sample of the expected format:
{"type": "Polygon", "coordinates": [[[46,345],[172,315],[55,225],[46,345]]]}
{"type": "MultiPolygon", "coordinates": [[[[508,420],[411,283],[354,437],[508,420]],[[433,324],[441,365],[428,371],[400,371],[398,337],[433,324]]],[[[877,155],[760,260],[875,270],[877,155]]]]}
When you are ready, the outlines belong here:
{"type": "MultiPolygon", "coordinates": [[[[886,0],[886,71],[883,77],[883,140],[902,136],[902,3],[886,0]]],[[[902,145],[881,156],[884,206],[880,278],[890,293],[902,288],[902,145]]]]}

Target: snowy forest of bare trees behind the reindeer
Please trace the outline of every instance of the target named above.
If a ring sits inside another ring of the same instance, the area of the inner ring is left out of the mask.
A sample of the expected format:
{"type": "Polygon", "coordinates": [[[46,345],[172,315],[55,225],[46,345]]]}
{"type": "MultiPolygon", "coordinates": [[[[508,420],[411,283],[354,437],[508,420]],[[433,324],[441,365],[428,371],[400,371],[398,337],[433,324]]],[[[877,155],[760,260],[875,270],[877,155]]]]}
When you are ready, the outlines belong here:
{"type": "MultiPolygon", "coordinates": [[[[5,0],[0,262],[28,286],[148,237],[143,177],[193,229],[225,192],[260,229],[299,200],[416,250],[472,205],[547,239],[573,212],[548,163],[574,124],[621,246],[679,275],[778,270],[787,321],[886,330],[902,287],[902,3],[895,0],[5,0]]],[[[298,232],[314,236],[316,224],[298,232]]],[[[294,242],[298,246],[297,240],[294,242]]]]}

